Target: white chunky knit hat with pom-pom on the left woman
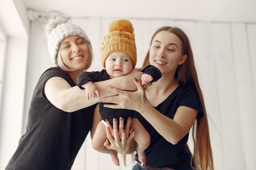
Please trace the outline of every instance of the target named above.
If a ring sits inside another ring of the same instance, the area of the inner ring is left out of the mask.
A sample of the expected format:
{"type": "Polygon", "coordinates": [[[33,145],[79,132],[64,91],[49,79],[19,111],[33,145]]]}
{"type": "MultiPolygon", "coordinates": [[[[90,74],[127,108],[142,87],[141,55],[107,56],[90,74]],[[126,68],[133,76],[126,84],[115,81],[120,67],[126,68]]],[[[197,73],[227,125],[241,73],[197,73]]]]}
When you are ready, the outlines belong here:
{"type": "Polygon", "coordinates": [[[75,24],[65,23],[66,21],[67,19],[57,17],[54,19],[50,19],[49,22],[45,25],[48,51],[52,61],[56,66],[58,65],[56,57],[59,45],[61,44],[62,40],[70,35],[79,35],[80,37],[84,38],[88,46],[90,46],[90,48],[92,49],[92,44],[85,31],[83,31],[80,26],[77,26],[75,24]]]}

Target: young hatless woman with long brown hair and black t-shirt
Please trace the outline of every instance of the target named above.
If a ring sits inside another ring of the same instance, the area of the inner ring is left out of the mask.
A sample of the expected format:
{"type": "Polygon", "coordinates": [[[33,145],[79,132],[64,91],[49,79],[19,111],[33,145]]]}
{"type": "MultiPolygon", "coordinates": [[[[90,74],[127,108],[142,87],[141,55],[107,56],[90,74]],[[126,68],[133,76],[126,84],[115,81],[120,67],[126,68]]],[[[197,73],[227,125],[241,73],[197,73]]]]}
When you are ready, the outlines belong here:
{"type": "MultiPolygon", "coordinates": [[[[144,66],[149,64],[162,73],[157,82],[144,90],[135,79],[135,92],[107,86],[118,95],[100,99],[116,104],[105,107],[139,112],[136,117],[150,134],[146,165],[136,155],[133,170],[213,170],[207,112],[189,38],[177,27],[159,28],[144,61],[144,66]],[[187,145],[192,127],[193,154],[187,145]]],[[[113,145],[106,144],[108,148],[113,145]]]]}

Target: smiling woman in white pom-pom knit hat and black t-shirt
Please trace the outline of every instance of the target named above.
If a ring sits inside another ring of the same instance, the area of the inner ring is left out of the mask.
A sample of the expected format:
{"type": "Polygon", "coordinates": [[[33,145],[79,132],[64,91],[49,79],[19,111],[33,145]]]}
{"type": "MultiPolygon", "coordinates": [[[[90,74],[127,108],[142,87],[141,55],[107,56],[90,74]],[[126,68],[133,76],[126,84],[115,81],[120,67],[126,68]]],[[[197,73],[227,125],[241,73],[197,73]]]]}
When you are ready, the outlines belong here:
{"type": "MultiPolygon", "coordinates": [[[[56,18],[45,25],[49,54],[56,67],[47,69],[38,80],[26,132],[6,170],[70,170],[91,129],[98,98],[87,100],[85,91],[76,86],[76,78],[90,67],[92,46],[83,29],[65,22],[56,18]]],[[[140,75],[141,72],[132,71],[125,77],[95,85],[100,95],[106,97],[115,94],[107,91],[105,85],[136,90],[132,79],[140,75]]],[[[130,135],[130,141],[133,136],[130,135]]],[[[119,148],[122,153],[134,150],[123,148],[119,148]]]]}

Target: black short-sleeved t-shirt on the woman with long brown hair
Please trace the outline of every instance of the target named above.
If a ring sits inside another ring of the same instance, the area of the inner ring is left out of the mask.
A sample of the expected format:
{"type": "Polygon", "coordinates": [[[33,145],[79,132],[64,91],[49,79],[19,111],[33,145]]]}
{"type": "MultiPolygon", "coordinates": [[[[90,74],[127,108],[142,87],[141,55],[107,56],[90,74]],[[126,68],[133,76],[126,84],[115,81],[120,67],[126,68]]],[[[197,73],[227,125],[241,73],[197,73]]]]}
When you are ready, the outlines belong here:
{"type": "MultiPolygon", "coordinates": [[[[155,109],[173,119],[179,106],[187,106],[198,110],[198,119],[203,115],[195,87],[182,84],[155,109]]],[[[177,168],[190,165],[191,154],[185,149],[189,133],[176,145],[173,145],[166,141],[139,113],[135,116],[148,131],[151,138],[150,146],[145,150],[147,166],[177,168]]],[[[138,155],[136,155],[135,160],[138,161],[138,155]]]]}

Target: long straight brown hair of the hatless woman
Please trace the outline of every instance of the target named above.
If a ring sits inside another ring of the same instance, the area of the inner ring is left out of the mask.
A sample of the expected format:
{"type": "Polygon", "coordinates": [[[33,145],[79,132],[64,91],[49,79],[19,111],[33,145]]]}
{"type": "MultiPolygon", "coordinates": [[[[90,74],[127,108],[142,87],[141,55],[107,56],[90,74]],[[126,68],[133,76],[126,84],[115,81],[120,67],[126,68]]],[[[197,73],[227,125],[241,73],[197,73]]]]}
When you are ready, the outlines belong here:
{"type": "MultiPolygon", "coordinates": [[[[175,35],[177,35],[178,38],[180,38],[182,42],[182,52],[188,57],[184,64],[178,66],[175,72],[175,78],[178,80],[178,82],[182,84],[191,84],[196,87],[200,98],[202,111],[204,113],[201,118],[196,119],[193,125],[192,135],[194,142],[194,152],[191,158],[191,166],[196,170],[214,170],[207,113],[204,105],[202,91],[198,82],[198,75],[195,69],[193,53],[189,38],[180,28],[164,26],[157,29],[157,31],[153,34],[150,46],[153,38],[160,31],[169,31],[170,33],[174,33],[175,35]]],[[[149,65],[149,51],[143,63],[143,66],[147,65],[149,65]]]]}

